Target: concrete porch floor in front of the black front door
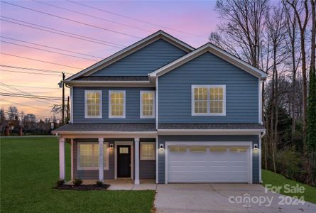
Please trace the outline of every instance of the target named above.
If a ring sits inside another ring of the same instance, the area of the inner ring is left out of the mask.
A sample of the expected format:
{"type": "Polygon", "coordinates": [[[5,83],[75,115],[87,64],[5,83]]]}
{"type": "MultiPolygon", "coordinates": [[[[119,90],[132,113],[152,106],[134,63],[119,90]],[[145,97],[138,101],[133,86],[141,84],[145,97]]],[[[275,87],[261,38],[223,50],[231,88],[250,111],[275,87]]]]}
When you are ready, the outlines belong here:
{"type": "MultiPolygon", "coordinates": [[[[83,185],[95,184],[97,180],[82,180],[83,185]]],[[[156,180],[141,179],[141,184],[135,185],[134,180],[129,178],[107,179],[104,183],[111,185],[107,190],[156,190],[156,180]]],[[[73,185],[72,180],[65,183],[65,185],[73,185]]]]}

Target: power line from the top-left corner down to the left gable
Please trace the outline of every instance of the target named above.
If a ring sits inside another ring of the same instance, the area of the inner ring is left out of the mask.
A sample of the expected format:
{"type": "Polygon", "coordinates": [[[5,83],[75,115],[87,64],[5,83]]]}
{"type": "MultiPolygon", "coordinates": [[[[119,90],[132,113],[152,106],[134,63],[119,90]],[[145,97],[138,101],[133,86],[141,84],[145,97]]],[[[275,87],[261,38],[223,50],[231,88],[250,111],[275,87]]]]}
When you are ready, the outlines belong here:
{"type": "Polygon", "coordinates": [[[133,38],[141,38],[141,37],[138,37],[136,35],[131,35],[129,33],[121,33],[119,31],[113,31],[113,30],[110,30],[110,29],[107,29],[107,28],[103,28],[101,26],[96,26],[96,25],[93,25],[91,23],[85,23],[85,22],[82,22],[82,21],[76,21],[76,20],[73,20],[73,19],[70,19],[70,18],[65,18],[65,17],[62,17],[62,16],[57,16],[57,15],[54,15],[52,13],[46,13],[46,12],[43,12],[43,11],[38,11],[36,9],[31,9],[29,7],[26,7],[26,6],[20,6],[20,5],[17,5],[17,4],[12,4],[12,3],[9,3],[7,1],[1,1],[5,4],[10,4],[12,6],[17,6],[19,8],[22,8],[22,9],[27,9],[27,10],[30,10],[30,11],[34,11],[34,12],[37,12],[37,13],[42,13],[42,14],[45,14],[45,15],[48,15],[48,16],[53,16],[55,18],[61,18],[63,20],[67,20],[67,21],[71,21],[71,22],[74,22],[74,23],[80,23],[82,25],[85,25],[85,26],[90,26],[90,27],[93,27],[93,28],[98,28],[98,29],[101,29],[101,30],[104,30],[104,31],[109,31],[109,32],[112,32],[112,33],[117,33],[117,34],[121,34],[121,35],[126,35],[126,36],[130,36],[130,37],[133,37],[133,38]]]}

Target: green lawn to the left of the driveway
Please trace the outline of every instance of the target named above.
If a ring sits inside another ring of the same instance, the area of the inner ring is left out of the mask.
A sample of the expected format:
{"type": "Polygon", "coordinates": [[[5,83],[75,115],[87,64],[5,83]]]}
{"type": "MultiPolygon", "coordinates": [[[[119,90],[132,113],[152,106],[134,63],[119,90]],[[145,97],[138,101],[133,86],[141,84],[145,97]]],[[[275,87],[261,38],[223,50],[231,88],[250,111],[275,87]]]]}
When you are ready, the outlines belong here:
{"type": "MultiPolygon", "coordinates": [[[[56,137],[0,138],[1,212],[151,212],[154,191],[62,191],[56,137]]],[[[70,179],[70,144],[66,143],[70,179]]]]}

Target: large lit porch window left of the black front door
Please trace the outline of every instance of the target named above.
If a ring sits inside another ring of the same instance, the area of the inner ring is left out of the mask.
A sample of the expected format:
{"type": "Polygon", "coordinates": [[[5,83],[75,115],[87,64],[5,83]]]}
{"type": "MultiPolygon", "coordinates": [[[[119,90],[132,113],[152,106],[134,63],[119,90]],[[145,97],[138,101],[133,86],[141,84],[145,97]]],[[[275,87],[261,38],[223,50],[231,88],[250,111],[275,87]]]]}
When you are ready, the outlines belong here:
{"type": "MultiPolygon", "coordinates": [[[[78,143],[78,165],[80,170],[99,168],[99,144],[78,143]]],[[[108,143],[103,143],[103,167],[109,168],[108,143]]]]}

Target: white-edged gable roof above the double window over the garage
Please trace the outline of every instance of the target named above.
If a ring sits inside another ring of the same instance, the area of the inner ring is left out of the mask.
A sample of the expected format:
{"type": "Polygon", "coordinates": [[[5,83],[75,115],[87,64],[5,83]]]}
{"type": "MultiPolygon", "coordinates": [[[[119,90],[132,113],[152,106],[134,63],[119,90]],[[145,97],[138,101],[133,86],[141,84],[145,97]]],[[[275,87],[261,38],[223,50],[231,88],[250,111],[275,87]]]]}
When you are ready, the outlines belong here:
{"type": "Polygon", "coordinates": [[[217,55],[217,57],[222,58],[223,60],[226,60],[227,62],[230,62],[232,65],[239,67],[241,70],[249,72],[251,75],[258,77],[261,80],[265,80],[266,77],[268,77],[268,74],[266,72],[263,72],[262,70],[254,67],[253,65],[250,65],[248,62],[245,62],[244,60],[236,58],[236,56],[231,55],[230,53],[227,53],[225,50],[218,48],[212,43],[206,43],[205,45],[202,45],[200,48],[197,48],[191,53],[188,53],[187,55],[184,55],[181,58],[178,58],[177,60],[174,60],[173,62],[168,63],[168,65],[160,67],[158,70],[155,70],[149,73],[148,75],[149,77],[159,77],[161,75],[164,75],[167,72],[170,72],[176,67],[179,67],[180,65],[183,65],[186,62],[189,62],[190,60],[197,58],[198,56],[207,52],[217,55]]]}

